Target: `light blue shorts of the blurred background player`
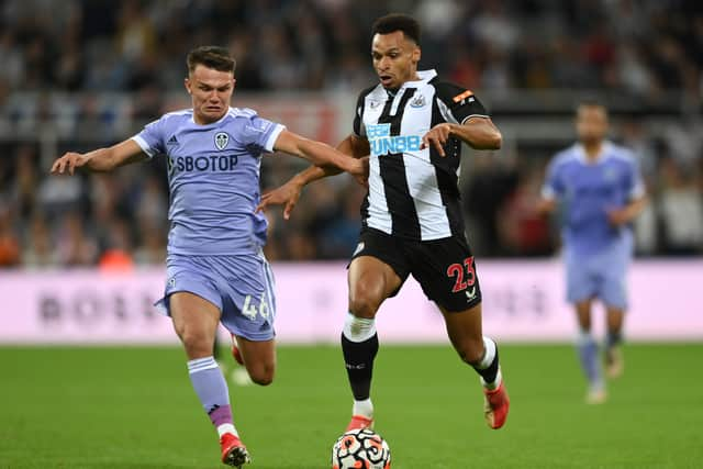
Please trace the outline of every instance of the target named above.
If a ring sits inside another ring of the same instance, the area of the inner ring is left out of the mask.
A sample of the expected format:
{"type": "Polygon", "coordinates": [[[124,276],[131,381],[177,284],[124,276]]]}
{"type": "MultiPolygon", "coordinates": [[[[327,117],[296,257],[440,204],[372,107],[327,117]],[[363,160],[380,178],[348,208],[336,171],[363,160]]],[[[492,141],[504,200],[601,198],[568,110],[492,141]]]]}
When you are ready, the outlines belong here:
{"type": "Polygon", "coordinates": [[[625,277],[632,257],[633,242],[629,237],[593,254],[574,253],[567,247],[567,300],[578,303],[596,298],[606,306],[625,310],[625,277]]]}

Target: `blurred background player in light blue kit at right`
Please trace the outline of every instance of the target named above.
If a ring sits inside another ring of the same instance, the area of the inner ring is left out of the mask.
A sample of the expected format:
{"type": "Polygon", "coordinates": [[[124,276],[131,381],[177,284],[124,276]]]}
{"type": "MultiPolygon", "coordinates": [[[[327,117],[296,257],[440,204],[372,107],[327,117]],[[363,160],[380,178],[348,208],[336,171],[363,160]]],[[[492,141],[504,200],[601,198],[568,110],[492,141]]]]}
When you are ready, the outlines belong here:
{"type": "Polygon", "coordinates": [[[605,364],[610,377],[623,371],[622,328],[627,295],[625,275],[633,256],[631,222],[646,203],[635,156],[605,139],[607,111],[596,102],[577,109],[579,142],[550,161],[538,210],[562,212],[567,299],[576,306],[577,340],[589,382],[587,402],[606,399],[591,332],[591,305],[601,300],[607,315],[605,364]]]}

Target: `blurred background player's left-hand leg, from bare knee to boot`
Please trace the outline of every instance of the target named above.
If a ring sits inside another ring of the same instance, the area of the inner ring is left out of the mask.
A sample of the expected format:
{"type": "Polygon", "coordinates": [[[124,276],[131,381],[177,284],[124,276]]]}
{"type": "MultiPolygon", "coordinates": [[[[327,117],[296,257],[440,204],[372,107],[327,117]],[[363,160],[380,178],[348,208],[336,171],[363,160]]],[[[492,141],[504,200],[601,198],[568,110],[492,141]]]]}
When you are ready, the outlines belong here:
{"type": "Polygon", "coordinates": [[[607,394],[598,359],[598,343],[591,333],[591,303],[592,300],[576,303],[576,313],[579,322],[577,348],[581,368],[589,383],[585,401],[589,404],[600,404],[605,402],[607,394]]]}

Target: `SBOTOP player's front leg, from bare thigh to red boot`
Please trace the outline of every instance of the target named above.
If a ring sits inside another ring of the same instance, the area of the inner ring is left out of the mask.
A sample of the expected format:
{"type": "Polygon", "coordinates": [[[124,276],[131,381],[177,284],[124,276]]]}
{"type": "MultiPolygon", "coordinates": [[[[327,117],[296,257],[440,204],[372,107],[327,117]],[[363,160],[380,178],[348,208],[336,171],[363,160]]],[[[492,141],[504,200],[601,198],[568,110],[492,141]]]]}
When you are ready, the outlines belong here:
{"type": "Polygon", "coordinates": [[[249,455],[232,420],[227,383],[212,356],[221,312],[189,292],[172,293],[169,303],[174,328],[188,357],[191,383],[220,435],[222,462],[239,467],[249,461],[249,455]]]}

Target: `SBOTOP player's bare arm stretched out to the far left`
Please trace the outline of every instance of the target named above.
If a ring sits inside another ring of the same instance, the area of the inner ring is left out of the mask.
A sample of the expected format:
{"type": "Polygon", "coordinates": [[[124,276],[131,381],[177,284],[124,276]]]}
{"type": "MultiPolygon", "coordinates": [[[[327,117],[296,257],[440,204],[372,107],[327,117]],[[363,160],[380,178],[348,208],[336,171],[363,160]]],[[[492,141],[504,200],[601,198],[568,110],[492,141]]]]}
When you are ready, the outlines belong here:
{"type": "Polygon", "coordinates": [[[72,175],[76,168],[85,168],[92,172],[107,172],[116,167],[146,159],[137,143],[130,138],[109,148],[99,148],[89,153],[68,152],[52,165],[53,175],[68,171],[72,175]]]}

